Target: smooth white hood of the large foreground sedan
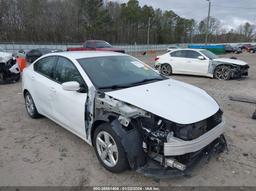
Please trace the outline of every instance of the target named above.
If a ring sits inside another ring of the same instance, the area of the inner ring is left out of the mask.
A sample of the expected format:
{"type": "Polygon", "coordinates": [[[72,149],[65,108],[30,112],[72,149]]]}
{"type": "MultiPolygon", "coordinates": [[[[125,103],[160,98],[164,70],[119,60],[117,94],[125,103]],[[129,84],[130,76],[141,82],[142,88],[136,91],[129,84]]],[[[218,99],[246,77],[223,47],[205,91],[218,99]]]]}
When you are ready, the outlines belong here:
{"type": "Polygon", "coordinates": [[[205,91],[172,79],[106,94],[179,124],[204,120],[219,110],[205,91]]]}

